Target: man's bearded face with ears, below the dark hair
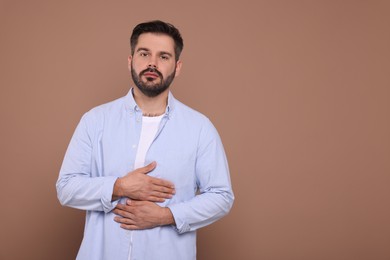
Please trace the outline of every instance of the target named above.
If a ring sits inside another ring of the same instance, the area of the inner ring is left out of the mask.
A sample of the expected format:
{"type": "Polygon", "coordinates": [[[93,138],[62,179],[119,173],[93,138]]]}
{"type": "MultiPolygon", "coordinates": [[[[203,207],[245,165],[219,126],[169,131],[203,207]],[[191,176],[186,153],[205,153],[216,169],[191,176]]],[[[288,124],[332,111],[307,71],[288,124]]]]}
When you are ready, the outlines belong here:
{"type": "Polygon", "coordinates": [[[179,75],[181,62],[176,62],[173,39],[165,34],[144,33],[138,38],[129,69],[137,88],[148,97],[167,90],[179,75]]]}

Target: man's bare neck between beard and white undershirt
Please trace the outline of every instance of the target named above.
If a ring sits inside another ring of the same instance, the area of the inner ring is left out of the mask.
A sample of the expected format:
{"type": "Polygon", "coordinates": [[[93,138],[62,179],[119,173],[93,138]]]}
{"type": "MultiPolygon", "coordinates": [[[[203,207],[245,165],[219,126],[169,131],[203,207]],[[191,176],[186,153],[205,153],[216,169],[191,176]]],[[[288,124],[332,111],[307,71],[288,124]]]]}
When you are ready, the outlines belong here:
{"type": "Polygon", "coordinates": [[[167,89],[156,97],[148,97],[137,87],[134,87],[133,95],[135,102],[145,116],[159,116],[165,113],[168,103],[168,92],[169,90],[167,89]]]}

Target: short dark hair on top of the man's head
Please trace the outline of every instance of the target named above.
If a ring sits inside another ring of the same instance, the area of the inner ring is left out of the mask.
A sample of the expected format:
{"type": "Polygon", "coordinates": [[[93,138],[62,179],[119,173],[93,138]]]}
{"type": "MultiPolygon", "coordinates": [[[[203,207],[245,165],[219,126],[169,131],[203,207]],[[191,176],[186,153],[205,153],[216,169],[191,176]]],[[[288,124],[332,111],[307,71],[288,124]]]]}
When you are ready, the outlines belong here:
{"type": "Polygon", "coordinates": [[[160,20],[140,23],[134,27],[133,33],[130,37],[131,55],[134,54],[135,46],[138,43],[138,37],[143,33],[162,33],[172,37],[173,41],[175,42],[175,59],[176,61],[179,60],[181,51],[184,47],[183,38],[175,26],[160,20]]]}

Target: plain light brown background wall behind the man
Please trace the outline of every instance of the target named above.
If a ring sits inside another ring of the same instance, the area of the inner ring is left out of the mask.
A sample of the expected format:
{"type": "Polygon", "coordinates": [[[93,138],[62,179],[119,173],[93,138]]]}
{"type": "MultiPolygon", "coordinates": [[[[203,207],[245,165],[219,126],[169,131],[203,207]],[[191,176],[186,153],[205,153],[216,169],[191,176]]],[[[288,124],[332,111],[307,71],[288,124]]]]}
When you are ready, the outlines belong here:
{"type": "Polygon", "coordinates": [[[199,259],[390,259],[389,1],[1,1],[0,259],[74,259],[55,181],[81,115],[130,87],[131,29],[182,31],[173,91],[211,118],[236,202],[199,259]]]}

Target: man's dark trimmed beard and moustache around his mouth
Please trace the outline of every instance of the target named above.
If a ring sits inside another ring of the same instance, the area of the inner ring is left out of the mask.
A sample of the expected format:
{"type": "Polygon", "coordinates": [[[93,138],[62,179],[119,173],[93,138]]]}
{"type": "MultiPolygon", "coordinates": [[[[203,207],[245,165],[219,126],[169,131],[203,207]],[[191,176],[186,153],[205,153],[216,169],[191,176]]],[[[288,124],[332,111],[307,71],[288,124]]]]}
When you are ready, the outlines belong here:
{"type": "Polygon", "coordinates": [[[171,74],[169,74],[165,80],[162,73],[154,68],[148,68],[146,70],[143,70],[137,75],[137,72],[135,72],[133,68],[133,64],[131,64],[131,76],[133,78],[134,84],[144,95],[148,97],[156,97],[160,95],[162,92],[164,92],[165,90],[167,90],[171,85],[173,79],[175,78],[175,73],[176,73],[176,66],[174,71],[171,74]],[[156,73],[158,74],[159,78],[156,79],[146,78],[146,82],[144,82],[141,80],[141,77],[146,72],[156,73]],[[159,82],[154,82],[154,81],[158,81],[158,79],[160,79],[159,82]]]}

